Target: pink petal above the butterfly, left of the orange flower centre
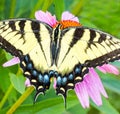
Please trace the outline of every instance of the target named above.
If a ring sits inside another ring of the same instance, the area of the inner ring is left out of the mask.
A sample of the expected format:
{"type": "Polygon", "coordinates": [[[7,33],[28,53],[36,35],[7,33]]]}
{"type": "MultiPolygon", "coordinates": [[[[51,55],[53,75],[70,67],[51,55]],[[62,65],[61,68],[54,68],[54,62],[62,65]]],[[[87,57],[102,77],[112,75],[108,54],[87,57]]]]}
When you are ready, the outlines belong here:
{"type": "Polygon", "coordinates": [[[35,12],[35,17],[37,20],[45,22],[52,27],[57,23],[56,17],[52,16],[49,12],[37,11],[35,12]]]}

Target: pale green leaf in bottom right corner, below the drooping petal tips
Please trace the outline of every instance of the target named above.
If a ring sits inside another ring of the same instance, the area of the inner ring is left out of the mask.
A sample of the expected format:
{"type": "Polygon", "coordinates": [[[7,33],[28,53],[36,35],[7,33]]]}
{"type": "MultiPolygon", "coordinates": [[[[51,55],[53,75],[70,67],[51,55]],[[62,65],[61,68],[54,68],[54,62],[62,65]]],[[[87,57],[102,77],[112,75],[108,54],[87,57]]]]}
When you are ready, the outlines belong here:
{"type": "Polygon", "coordinates": [[[119,112],[110,104],[108,99],[103,98],[102,100],[103,100],[103,104],[100,107],[96,106],[93,102],[91,104],[100,112],[103,112],[104,114],[119,114],[119,112]]]}

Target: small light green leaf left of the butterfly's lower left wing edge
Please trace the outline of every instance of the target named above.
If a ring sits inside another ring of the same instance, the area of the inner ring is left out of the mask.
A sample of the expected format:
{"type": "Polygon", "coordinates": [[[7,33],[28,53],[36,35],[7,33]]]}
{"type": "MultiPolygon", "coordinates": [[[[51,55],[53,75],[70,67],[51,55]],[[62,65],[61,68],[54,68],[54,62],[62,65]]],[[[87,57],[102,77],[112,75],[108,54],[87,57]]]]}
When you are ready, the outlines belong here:
{"type": "Polygon", "coordinates": [[[25,92],[25,78],[22,75],[10,73],[10,80],[13,87],[21,94],[25,92]]]}

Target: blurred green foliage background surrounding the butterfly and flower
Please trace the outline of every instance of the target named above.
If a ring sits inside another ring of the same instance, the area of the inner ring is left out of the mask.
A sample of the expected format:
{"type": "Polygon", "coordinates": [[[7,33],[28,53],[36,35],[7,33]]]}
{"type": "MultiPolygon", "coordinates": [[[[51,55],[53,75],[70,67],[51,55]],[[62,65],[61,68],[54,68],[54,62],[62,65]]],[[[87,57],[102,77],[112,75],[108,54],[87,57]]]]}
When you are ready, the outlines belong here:
{"type": "MultiPolygon", "coordinates": [[[[63,11],[68,10],[78,16],[83,25],[100,29],[120,38],[120,0],[0,0],[0,20],[35,18],[34,13],[37,10],[48,10],[58,19],[63,11]]],[[[32,93],[29,88],[25,89],[25,78],[22,76],[19,65],[3,68],[2,64],[9,60],[11,55],[2,49],[0,49],[0,58],[0,114],[6,112],[9,114],[11,107],[14,107],[14,114],[120,113],[119,77],[98,71],[109,95],[109,99],[103,98],[101,107],[91,102],[89,109],[83,109],[74,91],[69,91],[65,110],[61,96],[56,96],[52,87],[45,96],[40,95],[38,102],[33,105],[35,92],[32,93]]],[[[120,68],[117,62],[113,64],[120,68]]]]}

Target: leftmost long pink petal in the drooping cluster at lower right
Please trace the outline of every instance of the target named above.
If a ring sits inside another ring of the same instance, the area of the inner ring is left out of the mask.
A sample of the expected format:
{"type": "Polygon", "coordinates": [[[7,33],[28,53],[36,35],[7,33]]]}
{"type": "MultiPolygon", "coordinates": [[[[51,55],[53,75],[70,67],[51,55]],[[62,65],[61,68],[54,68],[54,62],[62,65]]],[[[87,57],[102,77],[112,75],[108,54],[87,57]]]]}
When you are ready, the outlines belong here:
{"type": "Polygon", "coordinates": [[[75,85],[76,95],[83,108],[89,108],[89,96],[85,82],[79,82],[75,85]]]}

